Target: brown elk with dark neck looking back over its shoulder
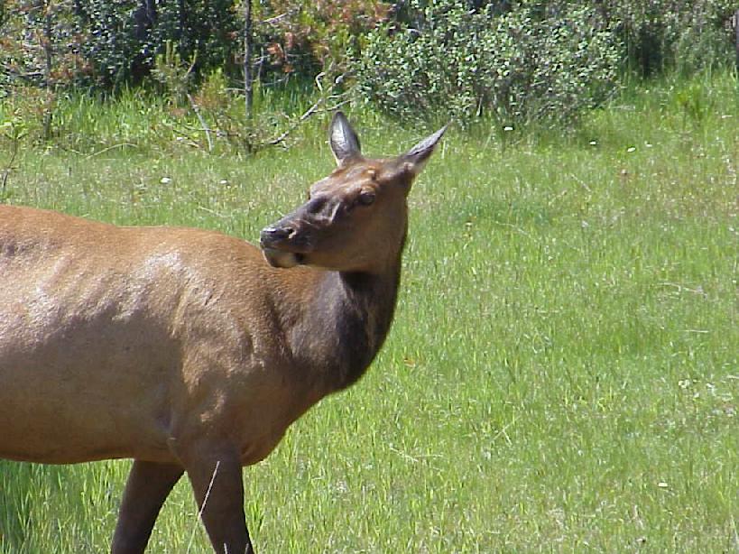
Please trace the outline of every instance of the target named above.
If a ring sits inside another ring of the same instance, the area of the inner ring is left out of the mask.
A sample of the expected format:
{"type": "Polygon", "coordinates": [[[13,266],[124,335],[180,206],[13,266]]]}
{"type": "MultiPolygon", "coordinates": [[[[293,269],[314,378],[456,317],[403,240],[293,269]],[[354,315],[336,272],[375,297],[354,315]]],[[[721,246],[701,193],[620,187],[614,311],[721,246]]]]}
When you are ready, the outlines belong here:
{"type": "Polygon", "coordinates": [[[337,169],[261,233],[112,226],[0,207],[0,457],[133,458],[112,541],[143,552],[187,473],[219,553],[253,552],[242,467],[364,374],[388,332],[412,180],[446,127],[337,169]]]}

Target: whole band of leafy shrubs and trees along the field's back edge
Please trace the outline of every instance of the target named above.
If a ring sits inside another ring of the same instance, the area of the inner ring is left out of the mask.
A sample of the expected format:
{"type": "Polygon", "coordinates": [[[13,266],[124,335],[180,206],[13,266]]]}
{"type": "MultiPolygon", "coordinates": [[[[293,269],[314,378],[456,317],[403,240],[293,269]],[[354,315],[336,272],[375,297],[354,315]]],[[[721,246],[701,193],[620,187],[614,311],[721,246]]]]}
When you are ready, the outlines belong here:
{"type": "MultiPolygon", "coordinates": [[[[250,121],[249,91],[306,88],[317,76],[330,83],[330,93],[319,84],[324,101],[341,95],[333,105],[369,102],[406,120],[443,114],[462,125],[482,118],[499,128],[574,126],[633,72],[689,76],[730,66],[734,4],[6,0],[0,96],[43,89],[49,140],[59,95],[80,86],[96,94],[174,91],[175,102],[206,127],[213,123],[200,117],[207,110],[182,98],[220,78],[221,103],[246,98],[238,123],[254,133],[236,142],[250,151],[265,129],[250,121]]],[[[222,112],[213,116],[224,121],[222,112]]],[[[233,125],[215,136],[232,133],[233,125]]]]}

